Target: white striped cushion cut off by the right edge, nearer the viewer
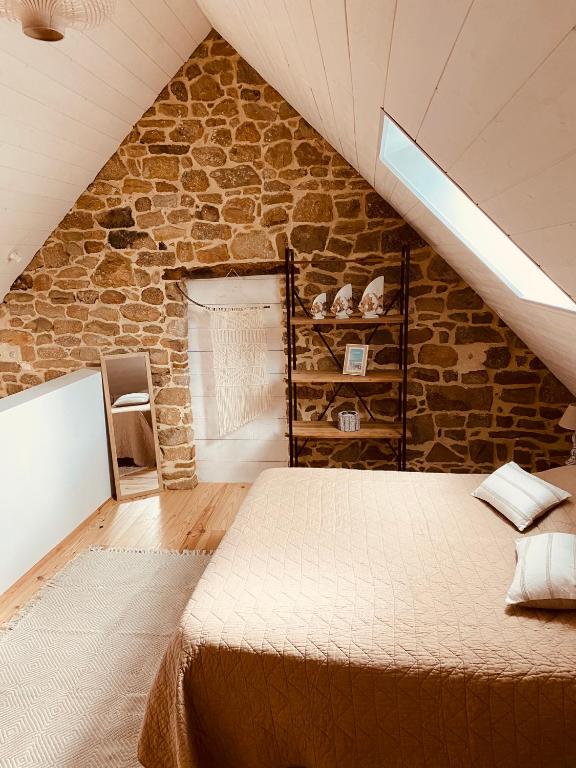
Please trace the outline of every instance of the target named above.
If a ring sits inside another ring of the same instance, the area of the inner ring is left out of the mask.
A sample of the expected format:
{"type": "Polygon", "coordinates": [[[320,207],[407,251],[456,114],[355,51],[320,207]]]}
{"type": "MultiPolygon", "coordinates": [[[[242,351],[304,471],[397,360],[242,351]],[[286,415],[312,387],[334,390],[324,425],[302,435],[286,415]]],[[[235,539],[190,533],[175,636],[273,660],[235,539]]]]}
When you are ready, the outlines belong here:
{"type": "Polygon", "coordinates": [[[516,542],[516,572],[506,605],[576,608],[576,536],[541,533],[516,542]]]}

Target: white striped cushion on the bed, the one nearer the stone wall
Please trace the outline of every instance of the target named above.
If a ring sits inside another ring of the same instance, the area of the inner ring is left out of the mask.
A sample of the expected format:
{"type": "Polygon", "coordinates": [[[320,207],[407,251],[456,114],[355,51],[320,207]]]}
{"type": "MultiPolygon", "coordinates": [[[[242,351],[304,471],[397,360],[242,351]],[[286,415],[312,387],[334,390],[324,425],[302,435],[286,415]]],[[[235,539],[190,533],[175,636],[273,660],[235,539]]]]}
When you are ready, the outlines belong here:
{"type": "Polygon", "coordinates": [[[571,494],[510,461],[487,477],[472,496],[487,501],[523,531],[571,494]]]}

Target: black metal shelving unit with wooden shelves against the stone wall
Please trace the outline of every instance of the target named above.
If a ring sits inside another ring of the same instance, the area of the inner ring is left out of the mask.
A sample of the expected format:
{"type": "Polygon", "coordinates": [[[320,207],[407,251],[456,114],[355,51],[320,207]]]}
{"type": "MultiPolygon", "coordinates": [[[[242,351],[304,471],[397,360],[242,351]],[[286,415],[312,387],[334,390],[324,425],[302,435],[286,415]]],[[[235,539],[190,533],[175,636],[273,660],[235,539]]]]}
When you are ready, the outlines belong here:
{"type": "Polygon", "coordinates": [[[406,470],[406,446],[408,440],[408,423],[406,416],[408,394],[408,327],[409,327],[409,297],[410,297],[410,248],[403,246],[398,255],[389,254],[383,257],[357,257],[347,259],[347,263],[355,261],[364,265],[382,267],[382,264],[400,264],[400,285],[394,292],[384,312],[378,318],[366,319],[352,316],[348,319],[326,317],[315,320],[304,304],[296,288],[296,277],[301,266],[319,265],[322,262],[334,262],[335,257],[312,257],[309,259],[296,258],[294,251],[287,248],[285,252],[285,290],[286,290],[286,340],[288,349],[287,388],[288,388],[288,438],[290,443],[290,466],[298,466],[300,453],[309,440],[377,440],[385,451],[392,454],[400,471],[406,470]],[[392,310],[398,313],[393,314],[392,310]],[[325,328],[336,327],[365,328],[369,331],[365,344],[370,344],[379,328],[386,327],[397,331],[397,366],[384,370],[366,371],[365,376],[350,376],[342,373],[343,359],[333,349],[326,338],[325,328]],[[333,371],[306,371],[298,368],[298,353],[296,344],[297,331],[310,330],[316,333],[334,360],[333,371]],[[363,384],[381,384],[382,387],[397,387],[397,413],[393,420],[377,419],[370,410],[365,397],[362,395],[363,384]],[[320,412],[318,419],[300,420],[298,418],[298,387],[299,385],[334,385],[334,391],[328,404],[320,412]],[[368,420],[363,421],[358,432],[341,432],[338,427],[325,419],[330,406],[344,387],[350,387],[364,408],[368,420]]]}

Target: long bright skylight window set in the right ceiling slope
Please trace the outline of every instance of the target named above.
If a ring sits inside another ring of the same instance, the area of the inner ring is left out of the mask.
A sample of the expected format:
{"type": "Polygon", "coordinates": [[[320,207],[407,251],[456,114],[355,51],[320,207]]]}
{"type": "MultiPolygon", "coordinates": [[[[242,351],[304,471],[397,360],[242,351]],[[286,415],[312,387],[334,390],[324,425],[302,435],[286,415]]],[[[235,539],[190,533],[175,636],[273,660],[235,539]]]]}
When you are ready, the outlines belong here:
{"type": "Polygon", "coordinates": [[[576,312],[576,304],[387,115],[380,160],[517,296],[576,312]]]}

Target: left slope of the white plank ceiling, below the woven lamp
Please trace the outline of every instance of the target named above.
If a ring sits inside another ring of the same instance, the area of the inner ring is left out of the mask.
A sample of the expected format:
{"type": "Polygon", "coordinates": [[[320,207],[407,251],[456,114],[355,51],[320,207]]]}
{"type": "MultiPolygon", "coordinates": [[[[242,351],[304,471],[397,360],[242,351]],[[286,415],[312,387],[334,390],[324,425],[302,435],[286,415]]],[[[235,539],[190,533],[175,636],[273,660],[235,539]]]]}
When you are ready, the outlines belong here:
{"type": "Polygon", "coordinates": [[[0,20],[0,301],[209,30],[194,0],[118,0],[60,43],[0,20]]]}

